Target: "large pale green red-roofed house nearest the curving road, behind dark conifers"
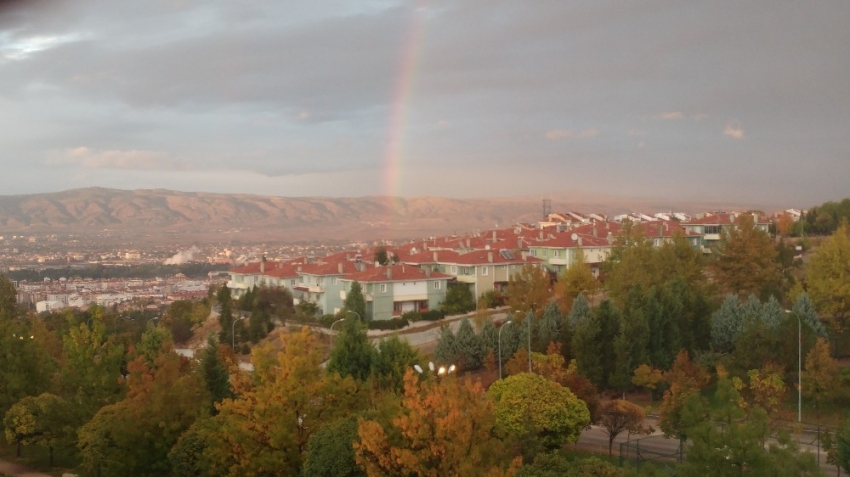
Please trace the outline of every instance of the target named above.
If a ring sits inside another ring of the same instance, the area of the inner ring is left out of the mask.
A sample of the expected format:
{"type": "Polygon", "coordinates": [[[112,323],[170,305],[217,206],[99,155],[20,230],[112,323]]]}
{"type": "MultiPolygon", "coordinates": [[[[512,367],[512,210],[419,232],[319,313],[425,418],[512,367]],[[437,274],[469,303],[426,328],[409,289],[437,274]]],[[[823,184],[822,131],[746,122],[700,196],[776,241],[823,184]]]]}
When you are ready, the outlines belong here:
{"type": "Polygon", "coordinates": [[[342,301],[357,281],[366,301],[365,320],[389,320],[404,313],[426,312],[439,308],[446,299],[452,277],[430,267],[387,265],[354,272],[340,278],[342,301]]]}

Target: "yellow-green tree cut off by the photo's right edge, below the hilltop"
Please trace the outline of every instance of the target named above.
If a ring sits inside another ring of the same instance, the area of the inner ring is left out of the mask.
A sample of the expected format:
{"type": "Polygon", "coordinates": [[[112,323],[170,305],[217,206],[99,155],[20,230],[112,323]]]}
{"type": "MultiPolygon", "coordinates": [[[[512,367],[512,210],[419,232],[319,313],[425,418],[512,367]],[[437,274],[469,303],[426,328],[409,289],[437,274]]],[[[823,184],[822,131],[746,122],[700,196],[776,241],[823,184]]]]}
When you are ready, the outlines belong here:
{"type": "Polygon", "coordinates": [[[850,318],[850,225],[843,221],[815,253],[806,268],[812,302],[829,317],[836,331],[848,327],[850,318]]]}

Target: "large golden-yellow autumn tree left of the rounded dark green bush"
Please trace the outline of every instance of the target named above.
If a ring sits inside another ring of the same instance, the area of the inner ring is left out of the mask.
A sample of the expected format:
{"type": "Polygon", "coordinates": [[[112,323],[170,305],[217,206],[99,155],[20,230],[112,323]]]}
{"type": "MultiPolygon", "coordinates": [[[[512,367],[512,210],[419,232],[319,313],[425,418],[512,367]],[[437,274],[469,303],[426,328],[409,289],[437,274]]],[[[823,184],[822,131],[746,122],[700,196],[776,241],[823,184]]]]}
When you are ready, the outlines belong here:
{"type": "Polygon", "coordinates": [[[236,380],[238,397],[222,401],[202,433],[205,472],[298,475],[313,433],[364,405],[350,376],[322,372],[322,349],[309,329],[280,340],[254,349],[253,375],[236,380]]]}

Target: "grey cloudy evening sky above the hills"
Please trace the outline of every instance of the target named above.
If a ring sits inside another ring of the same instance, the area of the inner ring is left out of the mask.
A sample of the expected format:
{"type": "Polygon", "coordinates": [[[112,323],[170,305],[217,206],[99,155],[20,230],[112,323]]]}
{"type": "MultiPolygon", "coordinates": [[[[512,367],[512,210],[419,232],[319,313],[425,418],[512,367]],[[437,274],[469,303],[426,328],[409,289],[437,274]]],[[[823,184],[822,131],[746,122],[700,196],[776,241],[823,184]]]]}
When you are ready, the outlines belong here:
{"type": "Polygon", "coordinates": [[[0,194],[850,196],[846,0],[0,1],[0,194]]]}

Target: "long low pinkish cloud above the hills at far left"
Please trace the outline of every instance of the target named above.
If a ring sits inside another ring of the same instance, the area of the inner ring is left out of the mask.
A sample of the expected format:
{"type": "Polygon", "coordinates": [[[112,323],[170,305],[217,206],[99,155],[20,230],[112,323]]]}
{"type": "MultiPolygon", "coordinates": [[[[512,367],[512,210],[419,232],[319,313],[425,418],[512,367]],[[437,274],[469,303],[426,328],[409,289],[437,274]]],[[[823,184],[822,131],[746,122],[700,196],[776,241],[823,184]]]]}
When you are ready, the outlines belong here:
{"type": "Polygon", "coordinates": [[[51,154],[49,165],[82,167],[84,169],[120,169],[120,170],[182,170],[185,165],[174,161],[164,152],[136,150],[96,151],[80,146],[61,153],[51,154]]]}

